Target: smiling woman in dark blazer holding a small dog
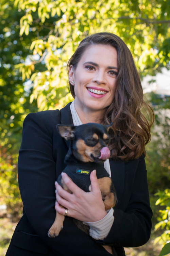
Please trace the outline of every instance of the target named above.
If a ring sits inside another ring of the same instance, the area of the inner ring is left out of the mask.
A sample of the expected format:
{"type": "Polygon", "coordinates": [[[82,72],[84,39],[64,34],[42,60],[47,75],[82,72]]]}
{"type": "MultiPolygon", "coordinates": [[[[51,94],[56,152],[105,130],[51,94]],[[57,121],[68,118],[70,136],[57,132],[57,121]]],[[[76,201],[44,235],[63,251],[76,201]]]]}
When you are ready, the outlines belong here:
{"type": "Polygon", "coordinates": [[[153,112],[143,102],[133,57],[118,36],[96,33],[82,40],[67,68],[74,102],[60,111],[31,113],[23,124],[18,179],[24,209],[7,256],[111,255],[101,245],[112,246],[115,254],[123,256],[123,246],[140,246],[150,237],[152,210],[144,158],[153,112]],[[148,110],[150,123],[142,107],[148,110]],[[65,168],[69,146],[57,133],[56,124],[88,122],[113,122],[111,158],[105,168],[116,188],[117,205],[105,212],[95,172],[90,175],[89,193],[64,174],[73,193],[55,183],[55,209],[88,224],[90,235],[66,217],[58,237],[48,238],[55,219],[54,182],[65,168]]]}

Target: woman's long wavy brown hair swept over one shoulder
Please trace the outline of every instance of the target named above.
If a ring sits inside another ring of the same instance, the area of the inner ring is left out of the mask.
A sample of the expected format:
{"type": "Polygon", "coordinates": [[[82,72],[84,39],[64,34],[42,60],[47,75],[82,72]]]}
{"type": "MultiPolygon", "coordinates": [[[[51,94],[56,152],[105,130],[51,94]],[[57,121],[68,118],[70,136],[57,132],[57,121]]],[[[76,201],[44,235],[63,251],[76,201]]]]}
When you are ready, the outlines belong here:
{"type": "MultiPolygon", "coordinates": [[[[117,50],[118,76],[116,78],[113,102],[107,107],[102,124],[113,122],[111,158],[125,161],[136,159],[144,154],[145,146],[150,142],[150,129],[154,113],[143,95],[140,77],[128,46],[115,34],[96,33],[83,39],[67,65],[76,69],[83,53],[91,45],[109,45],[117,50]]],[[[70,92],[75,98],[74,86],[69,82],[70,92]]]]}

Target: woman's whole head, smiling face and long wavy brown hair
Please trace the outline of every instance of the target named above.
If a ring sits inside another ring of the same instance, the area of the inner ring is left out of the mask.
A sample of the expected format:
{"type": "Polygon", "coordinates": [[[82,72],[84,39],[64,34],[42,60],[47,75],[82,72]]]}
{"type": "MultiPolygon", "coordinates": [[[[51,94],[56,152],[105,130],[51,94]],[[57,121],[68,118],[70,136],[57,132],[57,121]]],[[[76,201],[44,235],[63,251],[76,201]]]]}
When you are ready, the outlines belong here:
{"type": "Polygon", "coordinates": [[[112,158],[127,161],[142,153],[146,155],[153,110],[145,102],[127,45],[112,33],[91,35],[81,41],[67,71],[74,107],[81,121],[113,122],[112,158]],[[145,117],[146,112],[150,121],[145,117]]]}

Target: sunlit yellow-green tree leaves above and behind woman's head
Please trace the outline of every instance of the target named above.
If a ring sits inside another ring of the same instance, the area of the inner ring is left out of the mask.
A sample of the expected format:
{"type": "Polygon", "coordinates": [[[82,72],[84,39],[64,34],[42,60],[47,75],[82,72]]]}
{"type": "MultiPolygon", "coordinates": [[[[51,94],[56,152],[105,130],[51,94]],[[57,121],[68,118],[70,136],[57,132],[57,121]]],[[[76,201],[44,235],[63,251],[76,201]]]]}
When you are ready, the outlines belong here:
{"type": "Polygon", "coordinates": [[[37,32],[30,49],[46,68],[31,76],[35,60],[17,66],[23,79],[31,76],[31,102],[37,99],[40,110],[60,108],[70,100],[67,61],[79,42],[94,32],[117,33],[132,51],[141,76],[160,72],[163,66],[169,68],[168,0],[16,0],[15,6],[25,14],[20,36],[37,32]]]}

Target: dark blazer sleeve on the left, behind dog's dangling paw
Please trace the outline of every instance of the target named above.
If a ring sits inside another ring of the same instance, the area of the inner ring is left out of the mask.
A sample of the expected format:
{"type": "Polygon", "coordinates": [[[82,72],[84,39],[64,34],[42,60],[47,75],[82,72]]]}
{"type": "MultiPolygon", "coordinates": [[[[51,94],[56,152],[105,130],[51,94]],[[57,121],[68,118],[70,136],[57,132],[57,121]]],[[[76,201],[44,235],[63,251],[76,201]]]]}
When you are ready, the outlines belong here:
{"type": "MultiPolygon", "coordinates": [[[[91,250],[93,255],[109,255],[101,245],[75,226],[69,217],[65,218],[64,228],[58,237],[49,238],[47,235],[56,214],[54,182],[57,167],[53,155],[53,134],[57,133],[57,123],[60,123],[60,112],[52,111],[31,113],[24,120],[18,158],[18,181],[24,214],[35,235],[56,255],[69,255],[72,251],[72,255],[78,256],[82,251],[83,256],[90,255],[91,250]]],[[[61,140],[58,139],[56,144],[62,152],[61,140]]],[[[27,232],[27,227],[24,226],[22,231],[27,232]]]]}

